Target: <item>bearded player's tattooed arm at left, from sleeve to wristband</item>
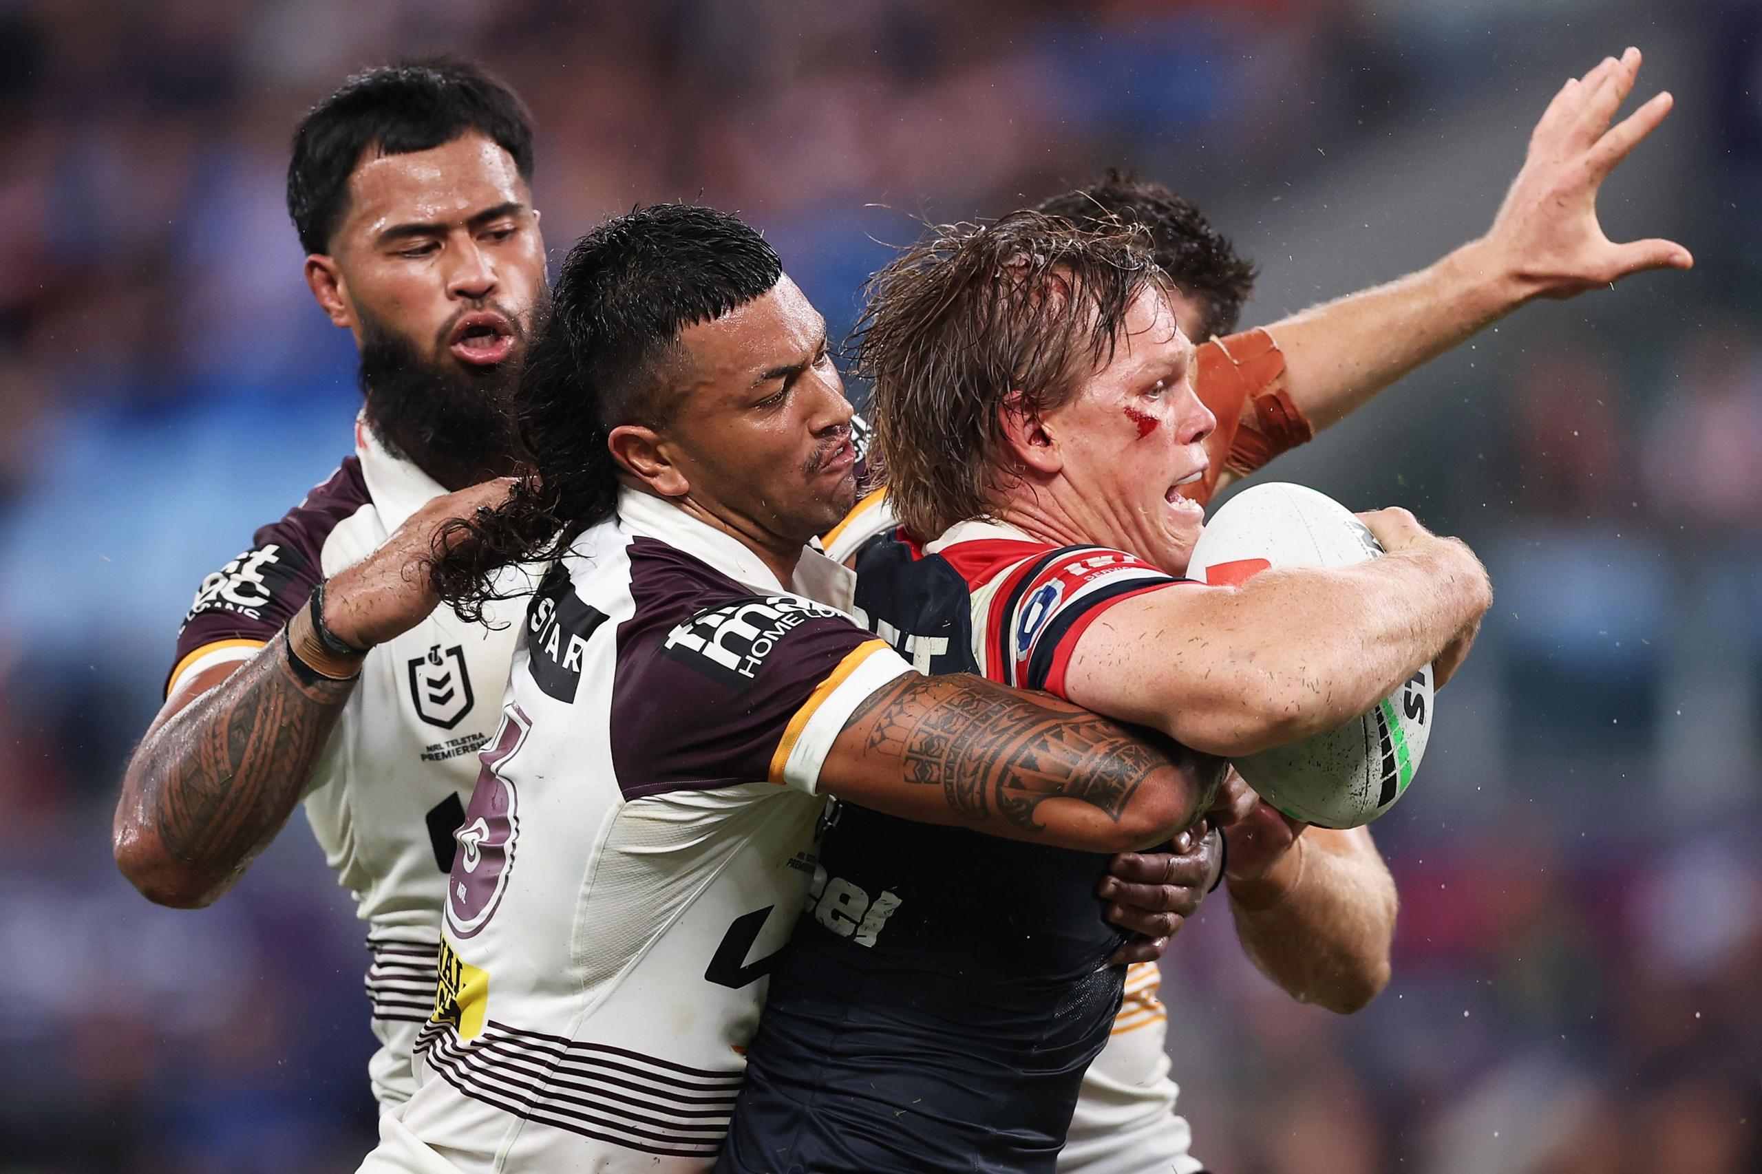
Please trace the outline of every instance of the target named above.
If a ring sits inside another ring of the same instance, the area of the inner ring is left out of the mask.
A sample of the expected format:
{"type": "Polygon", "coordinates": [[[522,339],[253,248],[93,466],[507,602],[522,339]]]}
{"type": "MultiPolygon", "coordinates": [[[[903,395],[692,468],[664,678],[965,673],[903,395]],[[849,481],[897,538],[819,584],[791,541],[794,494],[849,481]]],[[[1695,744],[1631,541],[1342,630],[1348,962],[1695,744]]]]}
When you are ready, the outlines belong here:
{"type": "Polygon", "coordinates": [[[136,747],[116,858],[164,904],[206,904],[275,837],[305,791],[352,680],[301,684],[285,635],[136,747]]]}

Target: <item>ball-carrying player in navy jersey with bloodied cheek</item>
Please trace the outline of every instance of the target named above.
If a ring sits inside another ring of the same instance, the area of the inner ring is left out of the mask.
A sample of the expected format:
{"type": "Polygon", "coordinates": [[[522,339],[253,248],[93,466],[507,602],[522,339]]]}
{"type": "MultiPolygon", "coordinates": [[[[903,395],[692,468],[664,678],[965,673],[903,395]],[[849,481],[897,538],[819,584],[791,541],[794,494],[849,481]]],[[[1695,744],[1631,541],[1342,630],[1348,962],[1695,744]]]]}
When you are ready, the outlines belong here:
{"type": "MultiPolygon", "coordinates": [[[[1214,418],[1142,231],[1022,212],[944,229],[870,286],[858,347],[904,534],[856,606],[929,672],[1101,707],[1207,754],[1334,730],[1448,677],[1491,605],[1404,511],[1350,569],[1181,580],[1214,418]]],[[[1124,975],[1092,855],[837,804],[772,973],[719,1169],[1052,1170],[1124,975]],[[856,908],[886,899],[858,936],[856,908]],[[1107,992],[1110,998],[1103,998],[1107,992]]]]}

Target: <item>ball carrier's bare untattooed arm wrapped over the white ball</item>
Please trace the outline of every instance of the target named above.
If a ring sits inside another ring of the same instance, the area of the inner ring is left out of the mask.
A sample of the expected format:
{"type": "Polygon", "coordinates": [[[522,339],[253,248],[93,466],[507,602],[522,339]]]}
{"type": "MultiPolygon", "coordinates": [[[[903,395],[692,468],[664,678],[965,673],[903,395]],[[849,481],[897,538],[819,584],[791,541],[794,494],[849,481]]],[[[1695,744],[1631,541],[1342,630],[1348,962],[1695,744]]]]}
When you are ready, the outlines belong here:
{"type": "Polygon", "coordinates": [[[1078,638],[1066,695],[1223,756],[1367,712],[1471,638],[1492,587],[1468,546],[1404,509],[1360,516],[1388,550],[1371,562],[1262,571],[1240,587],[1173,585],[1108,608],[1078,638]]]}

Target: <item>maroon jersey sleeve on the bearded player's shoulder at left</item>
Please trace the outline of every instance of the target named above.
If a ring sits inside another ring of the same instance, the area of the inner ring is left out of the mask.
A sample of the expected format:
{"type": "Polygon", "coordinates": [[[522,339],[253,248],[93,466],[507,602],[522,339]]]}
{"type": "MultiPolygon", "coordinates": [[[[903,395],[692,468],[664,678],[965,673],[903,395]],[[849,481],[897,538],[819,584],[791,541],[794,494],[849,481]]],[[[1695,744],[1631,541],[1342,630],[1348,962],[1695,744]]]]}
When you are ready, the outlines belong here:
{"type": "Polygon", "coordinates": [[[203,578],[178,629],[166,696],[181,680],[266,645],[324,578],[329,531],[365,502],[366,485],[351,457],[287,516],[259,529],[248,550],[203,578]]]}

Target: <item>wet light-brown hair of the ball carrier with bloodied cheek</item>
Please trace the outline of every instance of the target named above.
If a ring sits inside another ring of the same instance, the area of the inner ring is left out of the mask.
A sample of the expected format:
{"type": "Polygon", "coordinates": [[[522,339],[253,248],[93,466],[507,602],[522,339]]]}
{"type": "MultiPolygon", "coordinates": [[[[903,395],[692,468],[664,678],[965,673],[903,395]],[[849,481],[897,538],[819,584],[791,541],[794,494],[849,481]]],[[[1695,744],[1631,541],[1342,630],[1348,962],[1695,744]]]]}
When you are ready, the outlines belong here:
{"type": "Polygon", "coordinates": [[[1142,227],[1084,229],[1041,212],[946,224],[869,284],[855,370],[888,501],[934,538],[990,513],[1011,467],[1001,414],[1061,407],[1114,356],[1126,310],[1166,287],[1142,227]]]}

